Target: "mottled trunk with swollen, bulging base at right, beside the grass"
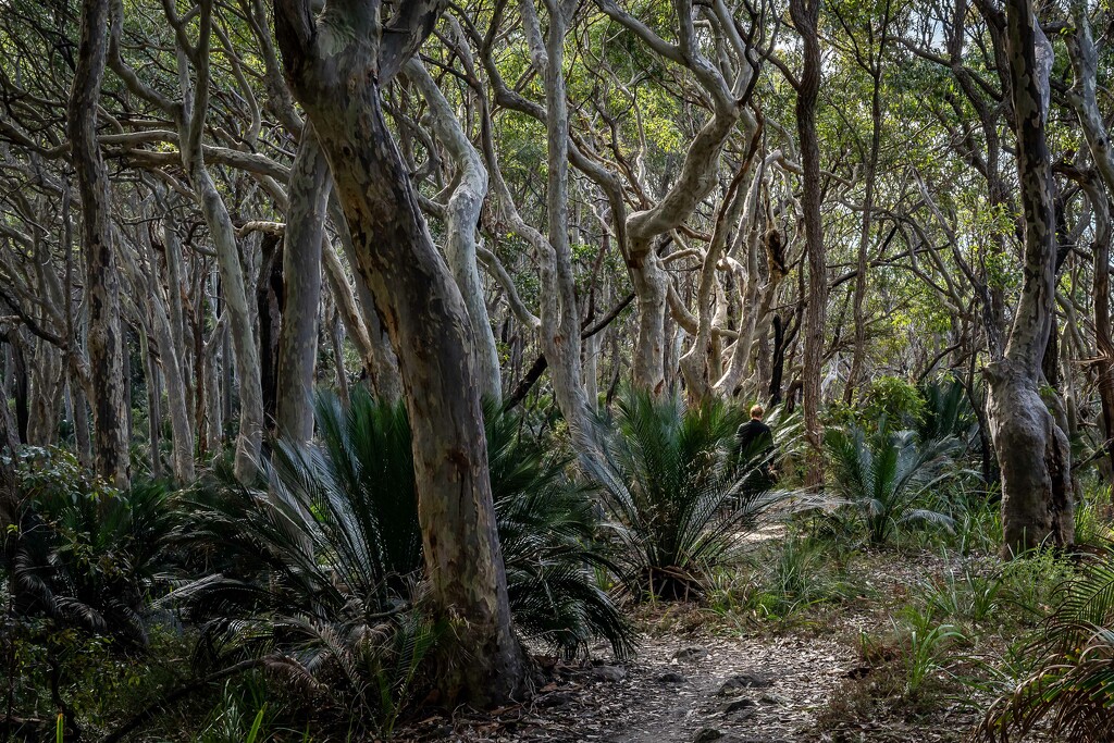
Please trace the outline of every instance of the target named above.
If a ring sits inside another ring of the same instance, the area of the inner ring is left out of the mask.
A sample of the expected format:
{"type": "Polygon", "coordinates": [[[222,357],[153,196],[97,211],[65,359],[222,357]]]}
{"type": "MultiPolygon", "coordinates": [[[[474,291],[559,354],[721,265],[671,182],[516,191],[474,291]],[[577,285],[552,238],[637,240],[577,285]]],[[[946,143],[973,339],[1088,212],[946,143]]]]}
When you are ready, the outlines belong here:
{"type": "Polygon", "coordinates": [[[1001,468],[1003,554],[1074,537],[1071,452],[1038,381],[1055,312],[1056,219],[1045,143],[1052,45],[1032,0],[1008,0],[1007,52],[1017,134],[1017,173],[1025,216],[1025,283],[1006,353],[987,365],[989,422],[1001,468]]]}

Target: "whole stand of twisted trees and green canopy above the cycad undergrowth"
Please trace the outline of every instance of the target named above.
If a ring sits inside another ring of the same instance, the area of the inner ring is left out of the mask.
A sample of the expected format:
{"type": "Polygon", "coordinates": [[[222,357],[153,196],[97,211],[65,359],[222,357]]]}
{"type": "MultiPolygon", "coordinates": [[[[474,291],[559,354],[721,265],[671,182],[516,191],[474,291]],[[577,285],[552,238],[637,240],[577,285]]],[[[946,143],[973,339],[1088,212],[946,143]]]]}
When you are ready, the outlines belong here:
{"type": "Polygon", "coordinates": [[[625,385],[799,407],[820,451],[873,381],[947,374],[1004,550],[1069,545],[1076,469],[1114,465],[1112,22],[0,0],[0,449],[65,443],[124,488],[231,448],[247,483],[314,437],[315,388],[402,401],[431,600],[490,698],[525,665],[483,400],[559,413],[620,489],[597,421],[625,385]]]}

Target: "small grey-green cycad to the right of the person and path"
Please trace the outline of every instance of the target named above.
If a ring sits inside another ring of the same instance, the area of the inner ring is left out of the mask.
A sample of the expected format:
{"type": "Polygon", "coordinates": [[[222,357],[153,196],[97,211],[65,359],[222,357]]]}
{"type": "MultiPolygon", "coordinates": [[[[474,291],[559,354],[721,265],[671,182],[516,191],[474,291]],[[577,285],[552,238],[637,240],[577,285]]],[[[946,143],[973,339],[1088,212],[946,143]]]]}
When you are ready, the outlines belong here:
{"type": "Polygon", "coordinates": [[[951,437],[921,442],[912,431],[887,431],[885,422],[869,437],[856,426],[830,428],[824,432],[829,488],[859,510],[872,545],[885,544],[905,524],[950,527],[951,517],[921,504],[954,473],[956,444],[951,437]]]}

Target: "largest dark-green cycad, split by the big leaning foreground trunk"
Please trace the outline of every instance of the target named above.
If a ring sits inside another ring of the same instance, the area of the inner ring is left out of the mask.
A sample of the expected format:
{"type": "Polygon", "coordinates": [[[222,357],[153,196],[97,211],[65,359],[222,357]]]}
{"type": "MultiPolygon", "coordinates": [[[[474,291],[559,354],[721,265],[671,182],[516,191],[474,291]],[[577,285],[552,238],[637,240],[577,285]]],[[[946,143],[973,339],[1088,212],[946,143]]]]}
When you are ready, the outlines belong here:
{"type": "MultiPolygon", "coordinates": [[[[627,653],[631,629],[596,586],[593,568],[607,561],[592,541],[590,500],[565,460],[519,437],[509,414],[487,412],[516,626],[566,654],[596,637],[627,653]]],[[[214,645],[272,653],[297,678],[344,688],[350,708],[389,722],[447,629],[420,609],[410,428],[401,404],[362,391],[348,407],[320,395],[316,419],[317,440],[276,442],[256,486],[223,477],[198,492],[183,538],[209,575],[169,600],[214,645]]]]}

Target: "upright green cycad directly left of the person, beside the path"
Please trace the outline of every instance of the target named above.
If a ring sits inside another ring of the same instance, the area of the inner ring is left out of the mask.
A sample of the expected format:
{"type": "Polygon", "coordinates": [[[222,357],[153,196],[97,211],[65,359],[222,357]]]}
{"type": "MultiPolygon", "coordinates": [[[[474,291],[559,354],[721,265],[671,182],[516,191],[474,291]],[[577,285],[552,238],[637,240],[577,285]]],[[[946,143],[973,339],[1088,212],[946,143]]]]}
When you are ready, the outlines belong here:
{"type": "Polygon", "coordinates": [[[607,469],[588,466],[614,521],[624,585],[638,598],[701,596],[707,570],[776,500],[737,468],[740,410],[626,390],[607,423],[607,469]]]}

